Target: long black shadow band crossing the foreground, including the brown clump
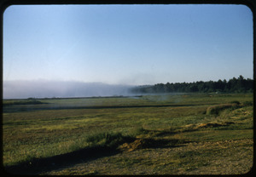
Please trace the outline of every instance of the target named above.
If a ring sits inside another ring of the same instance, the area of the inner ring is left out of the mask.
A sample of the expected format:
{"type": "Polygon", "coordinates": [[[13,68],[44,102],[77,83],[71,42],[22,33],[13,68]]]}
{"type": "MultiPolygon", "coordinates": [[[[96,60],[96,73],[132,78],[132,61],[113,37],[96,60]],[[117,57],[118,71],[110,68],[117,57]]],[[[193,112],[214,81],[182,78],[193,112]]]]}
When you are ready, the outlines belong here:
{"type": "Polygon", "coordinates": [[[18,165],[6,166],[5,170],[9,174],[42,174],[51,170],[67,168],[78,163],[86,163],[101,157],[111,157],[121,151],[135,151],[146,148],[166,148],[183,146],[180,140],[154,140],[154,139],[134,139],[120,146],[95,146],[84,148],[78,151],[57,155],[54,157],[34,158],[18,165]]]}

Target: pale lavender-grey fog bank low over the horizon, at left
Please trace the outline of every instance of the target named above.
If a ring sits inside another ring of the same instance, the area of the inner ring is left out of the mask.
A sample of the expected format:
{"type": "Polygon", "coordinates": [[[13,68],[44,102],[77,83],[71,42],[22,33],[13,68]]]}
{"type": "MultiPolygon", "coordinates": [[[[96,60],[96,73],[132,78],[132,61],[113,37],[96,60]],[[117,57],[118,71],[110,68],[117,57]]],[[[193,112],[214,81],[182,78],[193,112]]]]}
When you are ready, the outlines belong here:
{"type": "Polygon", "coordinates": [[[3,99],[129,95],[131,87],[134,86],[76,81],[4,81],[3,99]]]}

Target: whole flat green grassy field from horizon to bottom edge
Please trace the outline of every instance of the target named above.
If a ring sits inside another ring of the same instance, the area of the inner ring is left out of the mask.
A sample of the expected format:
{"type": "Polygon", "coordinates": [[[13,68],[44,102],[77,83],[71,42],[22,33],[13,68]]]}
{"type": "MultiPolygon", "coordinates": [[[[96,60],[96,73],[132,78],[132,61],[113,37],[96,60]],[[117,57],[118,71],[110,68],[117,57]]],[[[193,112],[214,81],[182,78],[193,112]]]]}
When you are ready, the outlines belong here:
{"type": "Polygon", "coordinates": [[[244,174],[253,94],[3,100],[15,174],[244,174]]]}

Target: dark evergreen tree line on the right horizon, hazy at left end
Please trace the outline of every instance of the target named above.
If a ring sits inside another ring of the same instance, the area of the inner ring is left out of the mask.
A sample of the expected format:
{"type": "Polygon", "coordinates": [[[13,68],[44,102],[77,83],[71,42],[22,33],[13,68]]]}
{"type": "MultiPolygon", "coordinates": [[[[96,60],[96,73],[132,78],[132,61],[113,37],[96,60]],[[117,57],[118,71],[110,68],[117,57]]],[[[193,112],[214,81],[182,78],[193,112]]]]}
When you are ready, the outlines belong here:
{"type": "Polygon", "coordinates": [[[154,94],[154,93],[252,93],[253,79],[240,76],[233,77],[229,81],[225,79],[218,81],[198,81],[194,83],[157,83],[154,85],[143,85],[131,88],[134,94],[154,94]]]}

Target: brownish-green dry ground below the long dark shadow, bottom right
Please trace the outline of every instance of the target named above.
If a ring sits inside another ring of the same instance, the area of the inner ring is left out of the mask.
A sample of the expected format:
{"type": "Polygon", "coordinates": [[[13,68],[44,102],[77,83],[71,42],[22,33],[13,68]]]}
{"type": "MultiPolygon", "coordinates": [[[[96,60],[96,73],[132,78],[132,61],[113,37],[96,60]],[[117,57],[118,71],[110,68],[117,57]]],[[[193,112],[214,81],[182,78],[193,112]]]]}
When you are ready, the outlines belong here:
{"type": "Polygon", "coordinates": [[[123,151],[43,174],[245,174],[252,166],[253,140],[225,140],[123,151]]]}

